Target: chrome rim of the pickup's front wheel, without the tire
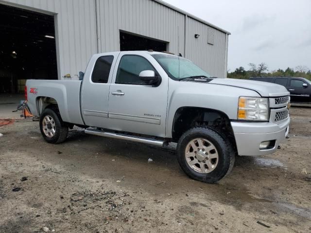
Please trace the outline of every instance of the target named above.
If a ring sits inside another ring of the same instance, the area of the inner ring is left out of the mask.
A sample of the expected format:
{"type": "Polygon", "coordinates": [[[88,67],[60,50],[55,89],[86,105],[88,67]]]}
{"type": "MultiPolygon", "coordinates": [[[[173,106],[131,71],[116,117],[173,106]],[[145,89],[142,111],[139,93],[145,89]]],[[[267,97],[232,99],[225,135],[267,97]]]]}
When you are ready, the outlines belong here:
{"type": "Polygon", "coordinates": [[[202,174],[213,171],[219,161],[216,147],[204,138],[195,138],[188,143],[185,158],[191,169],[202,174]]]}

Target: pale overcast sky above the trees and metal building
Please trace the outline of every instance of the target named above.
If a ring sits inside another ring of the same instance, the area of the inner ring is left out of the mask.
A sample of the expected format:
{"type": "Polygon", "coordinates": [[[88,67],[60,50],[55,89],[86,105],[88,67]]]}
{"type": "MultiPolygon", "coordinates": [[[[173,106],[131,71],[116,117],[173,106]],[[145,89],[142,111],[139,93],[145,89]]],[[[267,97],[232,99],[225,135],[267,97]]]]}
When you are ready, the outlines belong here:
{"type": "Polygon", "coordinates": [[[228,70],[311,69],[311,0],[164,0],[229,31],[228,70]]]}

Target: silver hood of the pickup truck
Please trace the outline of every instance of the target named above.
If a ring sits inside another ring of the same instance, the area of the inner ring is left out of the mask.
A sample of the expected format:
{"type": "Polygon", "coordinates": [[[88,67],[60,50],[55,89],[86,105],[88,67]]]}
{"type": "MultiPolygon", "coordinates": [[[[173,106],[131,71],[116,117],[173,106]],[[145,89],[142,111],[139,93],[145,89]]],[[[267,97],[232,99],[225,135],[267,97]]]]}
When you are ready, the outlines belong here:
{"type": "Polygon", "coordinates": [[[277,96],[288,96],[290,93],[284,86],[275,83],[266,83],[253,80],[244,79],[213,79],[209,83],[241,87],[245,89],[254,90],[259,93],[262,97],[277,97],[277,96]]]}

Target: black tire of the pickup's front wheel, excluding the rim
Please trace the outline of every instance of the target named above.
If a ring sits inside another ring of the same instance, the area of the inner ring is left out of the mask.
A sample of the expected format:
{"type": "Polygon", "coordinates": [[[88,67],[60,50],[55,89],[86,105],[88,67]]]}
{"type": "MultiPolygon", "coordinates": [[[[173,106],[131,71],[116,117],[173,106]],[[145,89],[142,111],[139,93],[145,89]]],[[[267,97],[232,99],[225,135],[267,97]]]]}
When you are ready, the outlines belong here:
{"type": "Polygon", "coordinates": [[[182,170],[191,178],[205,183],[215,183],[224,178],[233,168],[235,152],[230,141],[224,134],[209,127],[194,127],[186,131],[177,145],[177,159],[182,170]],[[218,152],[218,164],[209,173],[199,173],[188,164],[185,150],[191,140],[203,138],[211,142],[218,152]]]}

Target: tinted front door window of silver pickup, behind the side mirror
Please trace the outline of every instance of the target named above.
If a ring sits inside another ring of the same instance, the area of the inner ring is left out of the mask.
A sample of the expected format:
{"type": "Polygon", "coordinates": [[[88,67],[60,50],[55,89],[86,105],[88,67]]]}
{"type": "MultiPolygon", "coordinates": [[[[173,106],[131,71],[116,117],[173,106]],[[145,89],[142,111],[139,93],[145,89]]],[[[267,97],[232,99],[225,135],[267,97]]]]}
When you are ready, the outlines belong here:
{"type": "Polygon", "coordinates": [[[116,83],[145,84],[139,79],[139,73],[143,70],[155,71],[155,68],[141,56],[124,55],[118,68],[116,83]]]}

